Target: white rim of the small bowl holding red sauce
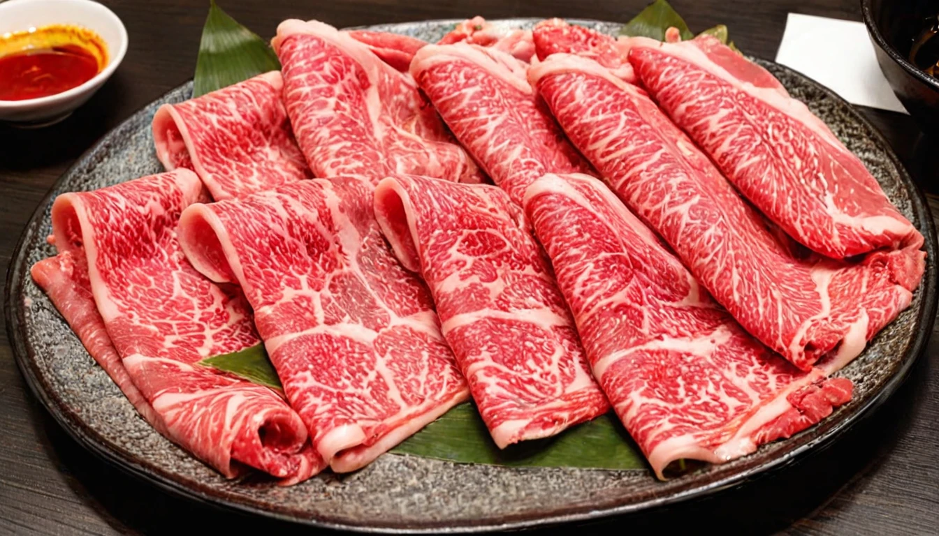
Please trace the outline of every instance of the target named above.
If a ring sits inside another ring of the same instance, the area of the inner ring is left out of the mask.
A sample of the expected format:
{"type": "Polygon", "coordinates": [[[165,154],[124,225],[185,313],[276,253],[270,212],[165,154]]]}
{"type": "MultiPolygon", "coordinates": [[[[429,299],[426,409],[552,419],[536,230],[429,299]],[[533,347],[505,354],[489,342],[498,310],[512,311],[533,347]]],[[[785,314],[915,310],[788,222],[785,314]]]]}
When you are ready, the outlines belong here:
{"type": "MultiPolygon", "coordinates": [[[[0,12],[4,11],[5,8],[13,9],[18,6],[33,4],[36,1],[42,0],[8,0],[7,2],[0,3],[0,12]]],[[[48,1],[48,0],[46,0],[48,1]]],[[[36,99],[24,99],[24,100],[0,100],[0,110],[13,111],[18,109],[36,109],[43,108],[50,105],[58,105],[69,100],[73,100],[77,97],[85,95],[88,91],[95,91],[100,84],[103,84],[108,78],[111,78],[111,75],[114,74],[117,66],[120,65],[121,61],[124,60],[124,55],[127,54],[129,38],[127,35],[127,28],[124,26],[124,23],[120,20],[114,11],[99,2],[94,0],[52,0],[54,2],[65,2],[69,4],[81,5],[84,8],[90,9],[92,11],[97,11],[98,14],[104,19],[109,20],[111,23],[115,23],[117,28],[117,43],[115,54],[111,55],[108,64],[104,66],[104,69],[101,69],[98,74],[89,78],[82,84],[78,84],[75,87],[71,87],[62,91],[60,93],[55,93],[53,95],[47,95],[45,97],[38,97],[36,99]]],[[[98,30],[95,28],[89,28],[96,34],[98,30]]],[[[110,48],[110,47],[109,47],[110,48]]],[[[111,53],[111,51],[108,51],[111,53]]]]}

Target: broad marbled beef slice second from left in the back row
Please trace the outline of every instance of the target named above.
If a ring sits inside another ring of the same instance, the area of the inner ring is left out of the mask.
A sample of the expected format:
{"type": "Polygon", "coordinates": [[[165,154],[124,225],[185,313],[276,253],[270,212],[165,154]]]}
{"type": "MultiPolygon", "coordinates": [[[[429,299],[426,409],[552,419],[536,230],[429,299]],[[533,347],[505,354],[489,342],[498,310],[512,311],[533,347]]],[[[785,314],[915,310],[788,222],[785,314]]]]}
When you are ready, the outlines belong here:
{"type": "Polygon", "coordinates": [[[362,42],[328,24],[288,20],[273,46],[284,66],[287,114],[316,176],[483,180],[411,77],[362,42]]]}

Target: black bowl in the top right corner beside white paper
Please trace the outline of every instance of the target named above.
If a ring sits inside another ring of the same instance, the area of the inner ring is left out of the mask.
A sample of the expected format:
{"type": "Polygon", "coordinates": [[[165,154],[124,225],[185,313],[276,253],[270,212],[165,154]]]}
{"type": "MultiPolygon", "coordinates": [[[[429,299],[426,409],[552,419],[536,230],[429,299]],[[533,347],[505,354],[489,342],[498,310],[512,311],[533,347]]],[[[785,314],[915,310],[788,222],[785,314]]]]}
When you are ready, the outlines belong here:
{"type": "Polygon", "coordinates": [[[877,62],[897,98],[923,130],[939,134],[939,80],[907,59],[921,22],[939,12],[932,0],[861,0],[877,62]]]}

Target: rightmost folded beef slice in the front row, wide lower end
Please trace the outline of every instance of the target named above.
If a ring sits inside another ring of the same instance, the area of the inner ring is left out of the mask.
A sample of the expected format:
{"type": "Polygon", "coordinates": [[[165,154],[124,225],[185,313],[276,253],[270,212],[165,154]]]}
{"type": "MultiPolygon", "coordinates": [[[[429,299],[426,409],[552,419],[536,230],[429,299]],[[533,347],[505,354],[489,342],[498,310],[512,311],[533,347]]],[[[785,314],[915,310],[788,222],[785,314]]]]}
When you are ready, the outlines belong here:
{"type": "Polygon", "coordinates": [[[617,415],[655,474],[723,463],[818,422],[849,380],[803,373],[747,334],[592,176],[547,175],[526,211],[617,415]]]}

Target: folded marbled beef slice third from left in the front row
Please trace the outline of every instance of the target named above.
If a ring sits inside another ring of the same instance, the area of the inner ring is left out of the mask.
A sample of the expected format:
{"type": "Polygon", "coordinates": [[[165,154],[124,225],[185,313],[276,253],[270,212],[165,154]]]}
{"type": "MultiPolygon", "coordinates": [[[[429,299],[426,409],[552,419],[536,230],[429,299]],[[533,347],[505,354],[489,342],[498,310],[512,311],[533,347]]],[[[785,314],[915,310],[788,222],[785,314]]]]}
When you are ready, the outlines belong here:
{"type": "Polygon", "coordinates": [[[378,184],[375,212],[398,259],[430,286],[496,445],[608,411],[545,253],[505,191],[392,176],[378,184]]]}

